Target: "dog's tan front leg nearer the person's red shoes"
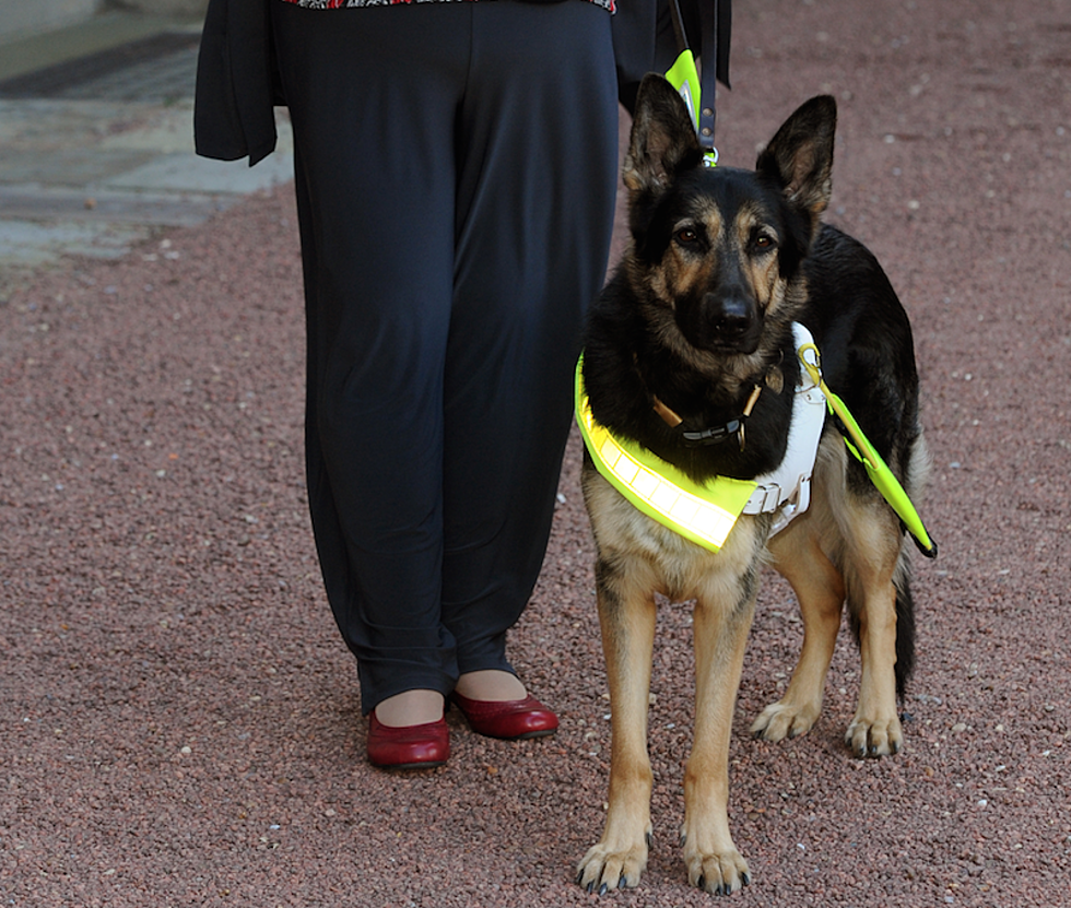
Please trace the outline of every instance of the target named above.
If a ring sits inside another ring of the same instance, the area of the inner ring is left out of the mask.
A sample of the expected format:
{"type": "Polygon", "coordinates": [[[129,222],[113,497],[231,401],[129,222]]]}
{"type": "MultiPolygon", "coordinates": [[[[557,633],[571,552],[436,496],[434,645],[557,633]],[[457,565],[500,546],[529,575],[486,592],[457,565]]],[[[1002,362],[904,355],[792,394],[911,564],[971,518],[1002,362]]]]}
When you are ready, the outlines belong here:
{"type": "Polygon", "coordinates": [[[596,568],[610,686],[610,797],[602,838],[577,866],[577,882],[600,894],[639,883],[651,839],[647,706],[656,605],[654,587],[622,571],[601,558],[596,568]]]}

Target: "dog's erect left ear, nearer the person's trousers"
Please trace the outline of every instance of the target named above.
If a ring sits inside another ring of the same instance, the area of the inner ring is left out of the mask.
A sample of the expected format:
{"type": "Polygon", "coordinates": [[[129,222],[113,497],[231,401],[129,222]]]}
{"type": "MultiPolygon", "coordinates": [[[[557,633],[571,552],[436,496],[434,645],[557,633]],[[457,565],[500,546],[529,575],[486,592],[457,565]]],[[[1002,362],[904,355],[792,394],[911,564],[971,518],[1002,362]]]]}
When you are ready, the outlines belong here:
{"type": "Polygon", "coordinates": [[[639,85],[622,179],[635,192],[661,192],[682,170],[703,160],[683,98],[658,73],[639,85]]]}

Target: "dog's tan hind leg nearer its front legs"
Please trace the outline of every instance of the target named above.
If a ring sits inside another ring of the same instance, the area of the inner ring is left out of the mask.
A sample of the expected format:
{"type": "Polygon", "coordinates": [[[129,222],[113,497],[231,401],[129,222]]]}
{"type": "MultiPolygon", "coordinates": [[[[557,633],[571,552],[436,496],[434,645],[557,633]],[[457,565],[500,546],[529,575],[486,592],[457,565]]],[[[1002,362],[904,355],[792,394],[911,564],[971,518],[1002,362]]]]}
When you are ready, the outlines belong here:
{"type": "Polygon", "coordinates": [[[767,706],[751,727],[753,734],[766,741],[810,731],[822,711],[845,587],[840,571],[822,549],[821,527],[819,512],[807,515],[770,540],[774,567],[788,580],[800,603],[803,648],[785,696],[767,706]]]}

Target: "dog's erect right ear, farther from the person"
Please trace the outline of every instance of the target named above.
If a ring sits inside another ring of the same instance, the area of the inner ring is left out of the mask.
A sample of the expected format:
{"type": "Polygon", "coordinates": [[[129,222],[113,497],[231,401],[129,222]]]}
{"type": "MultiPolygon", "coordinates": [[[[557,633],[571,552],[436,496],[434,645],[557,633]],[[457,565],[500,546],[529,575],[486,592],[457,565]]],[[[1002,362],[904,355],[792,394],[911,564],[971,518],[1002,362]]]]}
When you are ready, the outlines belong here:
{"type": "Polygon", "coordinates": [[[829,95],[812,97],[789,117],[755,169],[777,181],[789,201],[819,215],[833,192],[833,137],[837,103],[829,95]]]}

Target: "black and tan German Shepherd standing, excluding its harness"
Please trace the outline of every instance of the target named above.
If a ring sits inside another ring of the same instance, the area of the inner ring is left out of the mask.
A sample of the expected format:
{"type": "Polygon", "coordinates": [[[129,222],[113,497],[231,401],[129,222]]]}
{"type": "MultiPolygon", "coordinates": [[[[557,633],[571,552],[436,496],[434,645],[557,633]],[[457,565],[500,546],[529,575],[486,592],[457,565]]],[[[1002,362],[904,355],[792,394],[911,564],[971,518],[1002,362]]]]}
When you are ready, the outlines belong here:
{"type": "MultiPolygon", "coordinates": [[[[690,115],[661,76],[640,89],[623,166],[632,244],[592,305],[582,377],[595,421],[696,481],[750,480],[786,453],[801,368],[793,322],[811,332],[838,394],[908,494],[928,462],[918,422],[910,326],[875,258],[820,215],[831,194],[836,104],[803,104],[755,170],[704,167],[690,115]],[[704,427],[746,435],[696,445],[704,427]],[[672,427],[666,413],[681,424],[672,427]]],[[[694,600],[695,729],[684,773],[688,881],[714,894],[750,882],[729,832],[728,754],[760,574],[772,565],[799,599],[804,637],[785,696],[751,727],[767,741],[803,734],[848,603],[862,672],[845,740],[879,757],[903,746],[897,701],[914,662],[904,528],[826,416],[810,507],[770,536],[768,514],[742,515],[718,552],[656,522],[585,451],[585,503],[613,736],[601,840],[577,868],[589,892],[635,886],[651,844],[647,707],[656,593],[694,600]]]]}

